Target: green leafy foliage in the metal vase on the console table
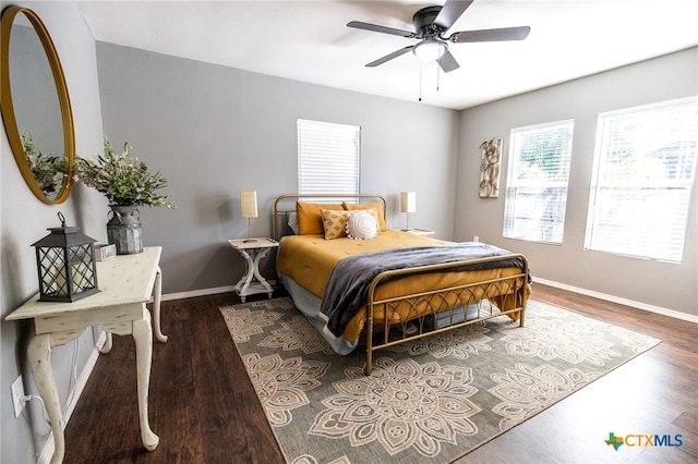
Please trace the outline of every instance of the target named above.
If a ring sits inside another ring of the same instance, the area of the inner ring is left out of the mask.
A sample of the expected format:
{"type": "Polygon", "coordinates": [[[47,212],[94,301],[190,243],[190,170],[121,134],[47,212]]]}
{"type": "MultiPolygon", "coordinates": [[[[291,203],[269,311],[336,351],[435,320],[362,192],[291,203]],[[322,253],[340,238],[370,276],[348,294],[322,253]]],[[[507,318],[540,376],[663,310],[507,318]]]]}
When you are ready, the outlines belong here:
{"type": "Polygon", "coordinates": [[[73,180],[104,194],[113,206],[174,208],[167,195],[156,191],[167,186],[159,172],[151,173],[143,161],[129,156],[129,143],[117,154],[105,137],[104,152],[93,159],[75,158],[73,180]]]}

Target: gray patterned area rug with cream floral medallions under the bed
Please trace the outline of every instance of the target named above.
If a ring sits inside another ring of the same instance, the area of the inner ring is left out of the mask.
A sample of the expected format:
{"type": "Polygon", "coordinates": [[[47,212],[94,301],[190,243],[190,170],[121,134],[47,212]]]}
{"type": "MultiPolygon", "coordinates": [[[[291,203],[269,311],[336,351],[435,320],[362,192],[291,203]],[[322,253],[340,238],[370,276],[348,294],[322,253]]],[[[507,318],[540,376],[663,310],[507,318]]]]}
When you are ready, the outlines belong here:
{"type": "Polygon", "coordinates": [[[290,298],[220,308],[289,463],[448,463],[660,341],[529,301],[506,317],[336,355],[290,298]]]}

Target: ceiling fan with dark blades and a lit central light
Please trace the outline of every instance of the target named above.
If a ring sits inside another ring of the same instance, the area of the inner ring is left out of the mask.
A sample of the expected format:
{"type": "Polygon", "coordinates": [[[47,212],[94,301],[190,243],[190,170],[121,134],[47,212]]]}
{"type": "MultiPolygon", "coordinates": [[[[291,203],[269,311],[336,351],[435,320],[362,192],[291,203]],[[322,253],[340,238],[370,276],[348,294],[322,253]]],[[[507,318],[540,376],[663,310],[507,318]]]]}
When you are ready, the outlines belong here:
{"type": "Polygon", "coordinates": [[[528,33],[531,30],[529,26],[460,30],[450,34],[449,36],[445,36],[446,32],[456,23],[468,7],[470,7],[470,3],[472,3],[472,0],[447,0],[443,7],[426,7],[419,10],[412,16],[414,32],[378,26],[376,24],[362,23],[360,21],[351,21],[347,26],[354,27],[357,29],[420,39],[419,44],[401,48],[383,58],[378,58],[377,60],[366,64],[366,68],[375,68],[411,50],[422,61],[437,61],[445,73],[460,68],[454,56],[448,51],[449,44],[524,40],[528,37],[528,33]]]}

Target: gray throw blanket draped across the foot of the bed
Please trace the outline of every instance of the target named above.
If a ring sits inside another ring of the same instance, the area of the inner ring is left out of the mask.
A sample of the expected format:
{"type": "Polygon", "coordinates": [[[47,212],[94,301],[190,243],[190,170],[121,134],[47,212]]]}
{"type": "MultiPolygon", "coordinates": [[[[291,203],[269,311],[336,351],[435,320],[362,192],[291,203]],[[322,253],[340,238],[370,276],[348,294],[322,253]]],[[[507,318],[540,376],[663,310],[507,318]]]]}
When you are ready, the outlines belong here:
{"type": "MultiPolygon", "coordinates": [[[[512,252],[493,245],[465,242],[448,245],[409,246],[344,258],[335,265],[325,289],[321,306],[321,313],[327,318],[325,330],[335,337],[341,337],[349,320],[365,304],[369,284],[383,271],[510,254],[512,252]]],[[[480,270],[502,267],[518,267],[522,270],[524,261],[520,258],[502,259],[461,266],[450,270],[480,270]]]]}

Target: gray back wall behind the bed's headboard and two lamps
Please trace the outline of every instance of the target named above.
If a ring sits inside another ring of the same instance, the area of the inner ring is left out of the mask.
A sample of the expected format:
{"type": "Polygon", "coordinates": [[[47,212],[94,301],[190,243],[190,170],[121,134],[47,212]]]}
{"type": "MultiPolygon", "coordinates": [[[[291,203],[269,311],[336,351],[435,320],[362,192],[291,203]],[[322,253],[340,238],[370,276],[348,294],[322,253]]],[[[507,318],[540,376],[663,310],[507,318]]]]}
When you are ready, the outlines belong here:
{"type": "MultiPolygon", "coordinates": [[[[164,292],[231,285],[244,261],[240,191],[256,190],[252,234],[272,233],[274,198],[298,192],[297,119],[361,126],[361,191],[418,194],[410,224],[450,239],[459,113],[97,42],[105,132],[168,178],[177,210],[141,211],[144,242],[163,245],[164,292]],[[437,206],[435,206],[437,205],[437,206]]],[[[272,262],[265,273],[274,277],[272,262]]]]}

